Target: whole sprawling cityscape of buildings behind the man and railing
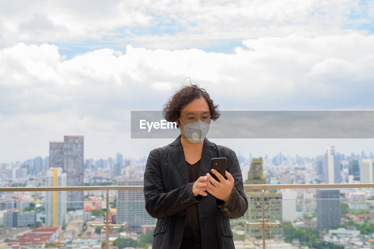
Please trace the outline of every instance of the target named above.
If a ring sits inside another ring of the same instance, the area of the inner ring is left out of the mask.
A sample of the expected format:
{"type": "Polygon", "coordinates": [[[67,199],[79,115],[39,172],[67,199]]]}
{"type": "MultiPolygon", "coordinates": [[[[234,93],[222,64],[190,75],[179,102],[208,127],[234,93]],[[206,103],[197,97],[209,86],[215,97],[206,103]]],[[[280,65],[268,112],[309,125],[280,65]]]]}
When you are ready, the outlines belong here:
{"type": "MultiPolygon", "coordinates": [[[[2,164],[0,187],[142,186],[147,158],[120,152],[107,159],[85,159],[84,137],[50,141],[49,156],[2,164]]],[[[373,154],[339,153],[321,148],[314,158],[252,158],[237,153],[244,184],[374,183],[373,154]]],[[[231,221],[236,248],[257,248],[262,217],[261,190],[246,190],[249,208],[231,221]]],[[[374,192],[371,188],[271,189],[264,193],[266,219],[279,220],[265,238],[273,248],[366,248],[374,242],[374,192]],[[373,221],[373,222],[372,222],[373,221]],[[338,247],[337,247],[338,246],[338,247]]],[[[106,219],[105,190],[0,193],[0,248],[101,248],[106,231],[91,227],[106,219]]],[[[126,222],[109,233],[118,248],[151,248],[156,219],[145,211],[141,190],[110,191],[109,220],[126,222]]]]}

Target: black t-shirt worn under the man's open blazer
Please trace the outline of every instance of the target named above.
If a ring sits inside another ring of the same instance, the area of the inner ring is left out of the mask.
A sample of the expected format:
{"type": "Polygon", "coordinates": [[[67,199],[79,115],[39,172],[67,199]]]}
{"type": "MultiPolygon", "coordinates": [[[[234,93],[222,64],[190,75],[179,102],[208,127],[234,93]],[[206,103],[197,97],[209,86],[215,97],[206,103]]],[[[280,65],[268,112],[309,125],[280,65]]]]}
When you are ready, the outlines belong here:
{"type": "MultiPolygon", "coordinates": [[[[193,183],[199,178],[200,160],[195,164],[186,161],[188,172],[188,183],[193,183]]],[[[201,249],[201,230],[199,208],[197,203],[189,206],[186,212],[186,223],[184,224],[183,237],[180,249],[201,249]]]]}

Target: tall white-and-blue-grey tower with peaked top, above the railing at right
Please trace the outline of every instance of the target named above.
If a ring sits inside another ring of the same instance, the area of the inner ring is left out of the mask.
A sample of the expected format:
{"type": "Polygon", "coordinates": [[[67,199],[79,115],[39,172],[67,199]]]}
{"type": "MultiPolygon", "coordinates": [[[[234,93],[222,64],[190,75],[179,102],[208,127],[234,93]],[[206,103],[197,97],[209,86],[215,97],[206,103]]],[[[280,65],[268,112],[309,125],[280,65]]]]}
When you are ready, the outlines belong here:
{"type": "Polygon", "coordinates": [[[324,178],[325,183],[341,183],[340,155],[335,153],[334,146],[326,148],[324,157],[324,178]]]}

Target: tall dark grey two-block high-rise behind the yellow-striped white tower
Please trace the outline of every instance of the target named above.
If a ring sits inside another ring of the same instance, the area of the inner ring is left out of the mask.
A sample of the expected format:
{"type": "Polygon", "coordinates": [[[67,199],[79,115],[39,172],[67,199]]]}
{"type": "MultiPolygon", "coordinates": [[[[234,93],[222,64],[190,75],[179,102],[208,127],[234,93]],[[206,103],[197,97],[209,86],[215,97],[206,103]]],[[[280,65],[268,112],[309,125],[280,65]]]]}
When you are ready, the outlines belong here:
{"type": "MultiPolygon", "coordinates": [[[[67,186],[83,186],[83,136],[64,136],[63,142],[49,143],[49,167],[62,168],[67,186]]],[[[83,208],[83,191],[67,191],[67,207],[83,208]]]]}

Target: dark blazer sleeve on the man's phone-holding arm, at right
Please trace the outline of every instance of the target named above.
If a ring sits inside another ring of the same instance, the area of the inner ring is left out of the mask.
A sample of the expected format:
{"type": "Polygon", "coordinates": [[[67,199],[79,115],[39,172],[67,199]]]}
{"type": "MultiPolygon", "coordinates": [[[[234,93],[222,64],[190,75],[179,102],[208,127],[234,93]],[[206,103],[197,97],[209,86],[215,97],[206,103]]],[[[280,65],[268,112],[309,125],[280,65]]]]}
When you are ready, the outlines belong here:
{"type": "Polygon", "coordinates": [[[234,186],[229,200],[225,203],[223,200],[216,199],[216,205],[221,209],[223,216],[234,219],[245,214],[248,209],[248,200],[244,192],[242,171],[235,152],[231,150],[230,153],[227,153],[227,157],[226,171],[233,176],[234,186]]]}

